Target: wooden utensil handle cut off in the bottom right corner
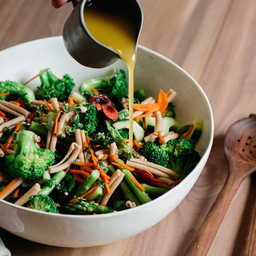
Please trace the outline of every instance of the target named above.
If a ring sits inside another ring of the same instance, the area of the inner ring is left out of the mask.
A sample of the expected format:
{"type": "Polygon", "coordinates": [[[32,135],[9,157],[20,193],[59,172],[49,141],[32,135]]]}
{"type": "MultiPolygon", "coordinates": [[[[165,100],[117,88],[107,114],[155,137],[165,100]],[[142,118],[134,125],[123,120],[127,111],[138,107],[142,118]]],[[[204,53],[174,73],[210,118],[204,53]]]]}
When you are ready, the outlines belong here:
{"type": "Polygon", "coordinates": [[[256,196],[250,210],[249,223],[239,254],[256,255],[256,196]]]}

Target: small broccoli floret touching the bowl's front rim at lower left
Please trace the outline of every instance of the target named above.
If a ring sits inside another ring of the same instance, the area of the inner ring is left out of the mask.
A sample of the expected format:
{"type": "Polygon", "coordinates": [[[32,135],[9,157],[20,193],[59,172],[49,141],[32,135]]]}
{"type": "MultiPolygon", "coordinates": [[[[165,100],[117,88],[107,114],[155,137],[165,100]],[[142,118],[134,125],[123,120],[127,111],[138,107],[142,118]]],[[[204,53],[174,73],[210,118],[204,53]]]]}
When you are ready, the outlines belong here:
{"type": "Polygon", "coordinates": [[[48,195],[43,194],[30,196],[29,208],[39,211],[59,213],[54,200],[48,195]]]}

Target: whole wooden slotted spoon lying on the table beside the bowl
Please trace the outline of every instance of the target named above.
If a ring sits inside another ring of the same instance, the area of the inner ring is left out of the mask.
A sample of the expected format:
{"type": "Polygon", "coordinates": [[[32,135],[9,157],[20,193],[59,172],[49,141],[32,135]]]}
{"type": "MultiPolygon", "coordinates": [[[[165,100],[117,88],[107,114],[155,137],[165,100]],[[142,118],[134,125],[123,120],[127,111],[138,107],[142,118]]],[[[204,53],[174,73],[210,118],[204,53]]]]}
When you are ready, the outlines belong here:
{"type": "Polygon", "coordinates": [[[206,256],[237,189],[256,170],[256,115],[230,126],[224,141],[227,179],[185,256],[206,256]]]}

